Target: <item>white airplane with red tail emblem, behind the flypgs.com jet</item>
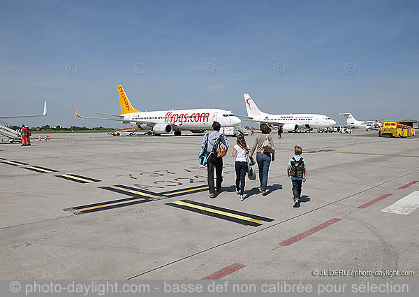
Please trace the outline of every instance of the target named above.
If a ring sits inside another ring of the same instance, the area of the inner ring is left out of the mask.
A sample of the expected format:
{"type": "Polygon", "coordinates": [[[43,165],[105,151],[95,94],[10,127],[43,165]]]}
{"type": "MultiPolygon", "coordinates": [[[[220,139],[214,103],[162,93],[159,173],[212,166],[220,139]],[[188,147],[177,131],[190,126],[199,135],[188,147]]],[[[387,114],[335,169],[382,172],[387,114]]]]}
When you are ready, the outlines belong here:
{"type": "Polygon", "coordinates": [[[249,94],[243,94],[246,103],[247,119],[251,122],[266,123],[273,126],[282,126],[284,131],[298,131],[299,129],[328,128],[334,126],[336,122],[326,115],[314,114],[288,114],[272,115],[263,113],[259,110],[256,103],[249,94]]]}

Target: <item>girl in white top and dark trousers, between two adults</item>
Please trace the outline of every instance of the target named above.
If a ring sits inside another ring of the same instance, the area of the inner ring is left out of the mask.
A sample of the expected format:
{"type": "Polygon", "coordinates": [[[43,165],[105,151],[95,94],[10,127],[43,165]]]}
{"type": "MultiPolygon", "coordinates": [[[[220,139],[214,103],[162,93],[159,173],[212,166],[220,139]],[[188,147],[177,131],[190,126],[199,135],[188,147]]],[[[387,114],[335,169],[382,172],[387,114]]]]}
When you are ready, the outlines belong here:
{"type": "Polygon", "coordinates": [[[244,181],[247,173],[247,159],[246,154],[250,154],[250,149],[247,147],[244,135],[240,133],[237,136],[237,144],[233,147],[233,158],[235,157],[235,171],[236,171],[236,194],[240,195],[240,200],[244,200],[244,181]]]}

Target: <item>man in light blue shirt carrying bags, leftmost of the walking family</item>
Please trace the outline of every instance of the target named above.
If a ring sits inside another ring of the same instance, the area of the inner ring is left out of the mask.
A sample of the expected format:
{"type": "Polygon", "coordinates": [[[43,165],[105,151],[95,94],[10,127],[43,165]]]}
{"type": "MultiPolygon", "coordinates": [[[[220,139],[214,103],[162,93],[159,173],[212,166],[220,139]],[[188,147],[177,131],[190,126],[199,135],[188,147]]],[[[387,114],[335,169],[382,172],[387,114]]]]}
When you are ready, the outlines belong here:
{"type": "Polygon", "coordinates": [[[223,182],[223,155],[227,153],[228,142],[226,136],[221,134],[221,125],[219,122],[212,123],[212,131],[204,136],[202,148],[207,147],[207,171],[208,171],[208,187],[210,190],[210,198],[215,198],[214,186],[214,169],[216,173],[216,191],[221,191],[223,182]]]}

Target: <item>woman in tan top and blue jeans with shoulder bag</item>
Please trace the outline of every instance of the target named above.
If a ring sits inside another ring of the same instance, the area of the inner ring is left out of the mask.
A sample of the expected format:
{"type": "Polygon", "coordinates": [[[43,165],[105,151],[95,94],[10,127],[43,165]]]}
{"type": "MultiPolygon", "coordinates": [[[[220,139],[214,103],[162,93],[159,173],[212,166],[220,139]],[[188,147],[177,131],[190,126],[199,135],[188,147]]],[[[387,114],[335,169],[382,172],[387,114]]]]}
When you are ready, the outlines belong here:
{"type": "Polygon", "coordinates": [[[251,154],[256,150],[256,161],[258,162],[259,168],[259,181],[260,191],[262,195],[266,196],[267,191],[267,173],[269,172],[269,166],[271,161],[275,161],[275,147],[274,140],[270,135],[270,129],[267,124],[260,124],[260,134],[256,136],[255,143],[251,148],[251,154]]]}

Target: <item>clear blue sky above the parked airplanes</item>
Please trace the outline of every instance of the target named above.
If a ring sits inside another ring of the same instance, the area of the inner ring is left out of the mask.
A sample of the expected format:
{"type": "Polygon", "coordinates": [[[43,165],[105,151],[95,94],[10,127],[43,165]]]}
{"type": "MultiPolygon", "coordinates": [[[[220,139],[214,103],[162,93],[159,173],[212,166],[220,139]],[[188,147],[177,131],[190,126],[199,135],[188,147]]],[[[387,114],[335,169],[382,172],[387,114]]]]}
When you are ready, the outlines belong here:
{"type": "Polygon", "coordinates": [[[122,84],[139,110],[244,115],[249,92],[270,113],[419,118],[418,2],[290,2],[4,2],[0,115],[41,113],[46,100],[48,117],[24,124],[123,126],[71,109],[119,113],[122,84]]]}

